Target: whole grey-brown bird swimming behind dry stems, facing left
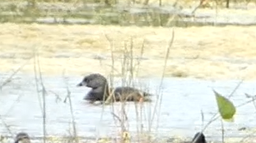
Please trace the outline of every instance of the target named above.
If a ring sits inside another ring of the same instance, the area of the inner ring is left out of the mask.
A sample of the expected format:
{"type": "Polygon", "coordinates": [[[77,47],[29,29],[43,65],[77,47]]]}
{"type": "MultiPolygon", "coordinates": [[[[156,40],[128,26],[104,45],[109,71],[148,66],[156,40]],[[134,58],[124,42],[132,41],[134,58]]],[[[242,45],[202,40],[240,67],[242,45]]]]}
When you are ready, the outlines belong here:
{"type": "Polygon", "coordinates": [[[83,81],[78,83],[77,86],[87,86],[92,88],[84,100],[94,101],[106,101],[109,97],[110,101],[151,101],[147,96],[151,96],[149,93],[140,91],[136,88],[123,86],[112,88],[108,86],[107,79],[99,74],[93,73],[83,78],[83,81]]]}

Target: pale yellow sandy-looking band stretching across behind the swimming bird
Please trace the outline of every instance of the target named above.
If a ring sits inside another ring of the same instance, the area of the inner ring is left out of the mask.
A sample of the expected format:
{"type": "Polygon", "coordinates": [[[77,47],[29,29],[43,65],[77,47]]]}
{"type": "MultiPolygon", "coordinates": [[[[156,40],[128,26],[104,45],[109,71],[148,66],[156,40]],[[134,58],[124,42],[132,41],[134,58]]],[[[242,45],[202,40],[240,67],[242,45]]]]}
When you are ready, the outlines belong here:
{"type": "MultiPolygon", "coordinates": [[[[167,76],[256,78],[256,27],[175,27],[174,32],[167,76]]],[[[63,70],[68,75],[109,74],[113,53],[119,75],[119,57],[133,39],[133,57],[140,57],[143,47],[138,76],[161,76],[171,37],[172,28],[163,27],[4,23],[0,25],[0,69],[12,72],[28,62],[21,72],[33,73],[33,58],[28,58],[38,48],[43,74],[60,75],[63,70]]]]}

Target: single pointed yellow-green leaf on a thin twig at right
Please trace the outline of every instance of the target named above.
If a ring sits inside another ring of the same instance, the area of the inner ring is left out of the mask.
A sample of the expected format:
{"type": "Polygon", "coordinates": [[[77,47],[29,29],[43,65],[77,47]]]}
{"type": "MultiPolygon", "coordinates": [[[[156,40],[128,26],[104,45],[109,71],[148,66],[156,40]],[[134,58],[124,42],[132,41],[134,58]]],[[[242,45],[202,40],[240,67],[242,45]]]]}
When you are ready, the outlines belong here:
{"type": "Polygon", "coordinates": [[[233,115],[236,112],[235,106],[226,97],[220,95],[217,91],[214,91],[216,101],[218,104],[218,112],[222,116],[223,120],[233,121],[233,115]]]}

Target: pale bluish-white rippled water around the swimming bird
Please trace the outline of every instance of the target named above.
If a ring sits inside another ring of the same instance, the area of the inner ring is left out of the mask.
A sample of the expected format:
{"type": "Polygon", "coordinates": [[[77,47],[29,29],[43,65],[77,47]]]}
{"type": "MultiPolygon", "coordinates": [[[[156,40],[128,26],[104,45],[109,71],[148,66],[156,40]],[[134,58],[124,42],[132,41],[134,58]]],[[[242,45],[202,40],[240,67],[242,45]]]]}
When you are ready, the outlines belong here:
{"type": "MultiPolygon", "coordinates": [[[[8,74],[1,74],[1,82],[8,78],[8,74]]],[[[89,90],[86,87],[77,87],[81,76],[68,76],[68,87],[71,91],[73,102],[73,113],[78,126],[78,136],[117,136],[118,122],[113,119],[112,106],[104,108],[93,106],[83,101],[84,94],[89,90]],[[101,114],[103,118],[101,119],[101,114]]],[[[115,86],[120,86],[121,81],[117,79],[115,86]]],[[[155,93],[158,89],[160,79],[139,79],[140,85],[148,86],[149,91],[155,93]]],[[[193,136],[195,131],[200,131],[202,126],[201,110],[203,110],[204,123],[209,121],[217,111],[215,96],[212,89],[228,96],[237,86],[239,81],[203,81],[190,78],[165,78],[163,81],[163,102],[161,111],[158,112],[159,124],[156,131],[156,122],[153,121],[152,134],[155,136],[193,136]]],[[[47,106],[47,132],[48,135],[68,135],[71,128],[71,113],[68,102],[64,102],[67,96],[66,83],[62,76],[43,76],[43,83],[48,95],[46,96],[47,106]]],[[[238,88],[231,100],[235,106],[248,101],[244,92],[253,95],[255,93],[256,81],[244,81],[238,88]]],[[[148,89],[148,88],[147,88],[148,89]]],[[[43,135],[43,118],[40,108],[40,100],[36,88],[36,81],[33,75],[18,74],[13,80],[0,91],[0,115],[3,121],[14,133],[27,131],[31,136],[43,135]]],[[[40,98],[41,99],[41,98],[40,98]]],[[[155,97],[153,97],[156,100],[155,97]]],[[[153,110],[153,103],[144,104],[144,130],[148,131],[148,117],[150,109],[153,110]]],[[[120,104],[114,104],[115,112],[120,110],[120,104]]],[[[136,133],[137,117],[133,103],[127,106],[129,131],[136,133]]],[[[152,111],[151,111],[152,112],[152,111]]],[[[152,116],[152,115],[151,115],[152,116]]],[[[253,103],[241,106],[237,110],[234,123],[224,122],[226,136],[245,136],[248,134],[238,131],[238,128],[252,128],[256,126],[256,109],[253,103]]],[[[8,135],[7,128],[0,123],[0,134],[8,135]]],[[[208,138],[220,139],[220,121],[214,121],[208,126],[205,134],[208,138]]]]}

